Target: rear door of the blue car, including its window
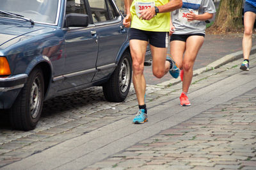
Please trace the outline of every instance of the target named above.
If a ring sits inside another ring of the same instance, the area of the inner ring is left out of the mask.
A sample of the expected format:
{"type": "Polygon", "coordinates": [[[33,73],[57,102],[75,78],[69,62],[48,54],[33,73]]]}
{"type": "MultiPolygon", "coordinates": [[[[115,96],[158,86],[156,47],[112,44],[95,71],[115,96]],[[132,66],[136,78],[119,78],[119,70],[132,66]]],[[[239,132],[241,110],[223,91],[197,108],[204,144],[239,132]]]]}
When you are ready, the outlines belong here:
{"type": "Polygon", "coordinates": [[[127,38],[127,28],[112,0],[88,0],[88,3],[99,36],[98,72],[93,79],[97,81],[113,72],[116,56],[127,38]]]}

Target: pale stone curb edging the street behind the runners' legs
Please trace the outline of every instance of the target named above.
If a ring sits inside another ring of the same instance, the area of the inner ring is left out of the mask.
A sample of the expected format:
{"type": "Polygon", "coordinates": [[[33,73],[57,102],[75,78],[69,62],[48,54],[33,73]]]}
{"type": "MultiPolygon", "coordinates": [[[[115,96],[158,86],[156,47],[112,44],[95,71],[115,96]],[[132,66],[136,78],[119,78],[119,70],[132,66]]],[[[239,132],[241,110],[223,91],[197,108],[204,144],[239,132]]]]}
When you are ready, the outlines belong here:
{"type": "MultiPolygon", "coordinates": [[[[252,47],[250,55],[255,54],[255,53],[256,53],[256,45],[252,47]]],[[[198,68],[197,70],[193,71],[193,77],[196,75],[199,75],[200,73],[209,72],[211,70],[219,68],[220,66],[230,63],[231,61],[235,61],[235,60],[241,59],[241,58],[243,58],[243,50],[233,52],[231,54],[224,56],[223,58],[217,59],[216,61],[210,63],[209,65],[207,65],[203,68],[198,68]]],[[[156,86],[163,86],[164,88],[166,88],[171,85],[178,84],[179,82],[181,82],[181,81],[178,77],[178,79],[171,79],[170,81],[161,82],[161,83],[157,84],[156,86]]]]}

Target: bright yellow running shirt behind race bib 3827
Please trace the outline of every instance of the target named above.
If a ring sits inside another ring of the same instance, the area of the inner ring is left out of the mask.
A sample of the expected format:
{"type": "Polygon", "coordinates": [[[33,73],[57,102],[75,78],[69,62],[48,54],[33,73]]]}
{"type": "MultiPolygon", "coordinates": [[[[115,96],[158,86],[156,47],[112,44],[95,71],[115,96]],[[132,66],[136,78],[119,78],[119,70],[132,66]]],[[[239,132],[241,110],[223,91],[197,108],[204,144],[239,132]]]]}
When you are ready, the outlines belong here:
{"type": "Polygon", "coordinates": [[[168,32],[170,29],[170,12],[157,13],[150,20],[141,20],[136,15],[135,3],[150,3],[155,2],[156,6],[161,6],[169,2],[169,0],[133,0],[130,8],[132,15],[131,27],[136,29],[141,29],[144,31],[158,31],[158,32],[168,32]]]}

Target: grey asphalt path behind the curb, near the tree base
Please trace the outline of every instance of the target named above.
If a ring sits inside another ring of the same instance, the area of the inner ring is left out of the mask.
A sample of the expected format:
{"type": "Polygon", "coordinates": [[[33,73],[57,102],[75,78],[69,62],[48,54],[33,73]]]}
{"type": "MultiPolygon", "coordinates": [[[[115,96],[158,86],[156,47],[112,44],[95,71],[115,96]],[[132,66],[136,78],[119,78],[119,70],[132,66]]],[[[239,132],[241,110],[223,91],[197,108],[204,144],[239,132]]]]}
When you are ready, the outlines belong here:
{"type": "MultiPolygon", "coordinates": [[[[256,35],[253,35],[252,45],[256,45],[256,35]]],[[[204,68],[210,63],[223,58],[233,52],[241,51],[242,49],[243,34],[237,33],[229,35],[205,35],[205,41],[198,52],[196,57],[194,70],[204,68]]],[[[169,51],[169,49],[168,49],[169,51]]],[[[239,56],[241,57],[241,56],[239,56]]],[[[144,69],[147,84],[156,85],[161,82],[169,81],[170,76],[164,75],[161,79],[154,77],[152,73],[152,66],[146,66],[144,69]]]]}

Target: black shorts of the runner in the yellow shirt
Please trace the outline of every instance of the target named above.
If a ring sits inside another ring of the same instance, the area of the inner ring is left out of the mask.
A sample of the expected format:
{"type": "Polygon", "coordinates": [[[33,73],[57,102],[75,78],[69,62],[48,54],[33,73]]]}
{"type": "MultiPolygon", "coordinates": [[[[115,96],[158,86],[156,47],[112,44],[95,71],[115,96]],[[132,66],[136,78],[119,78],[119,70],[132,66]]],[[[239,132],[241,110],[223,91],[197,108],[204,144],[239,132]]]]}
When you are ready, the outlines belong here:
{"type": "Polygon", "coordinates": [[[168,47],[168,32],[143,31],[131,28],[129,40],[143,40],[159,48],[168,47]]]}

